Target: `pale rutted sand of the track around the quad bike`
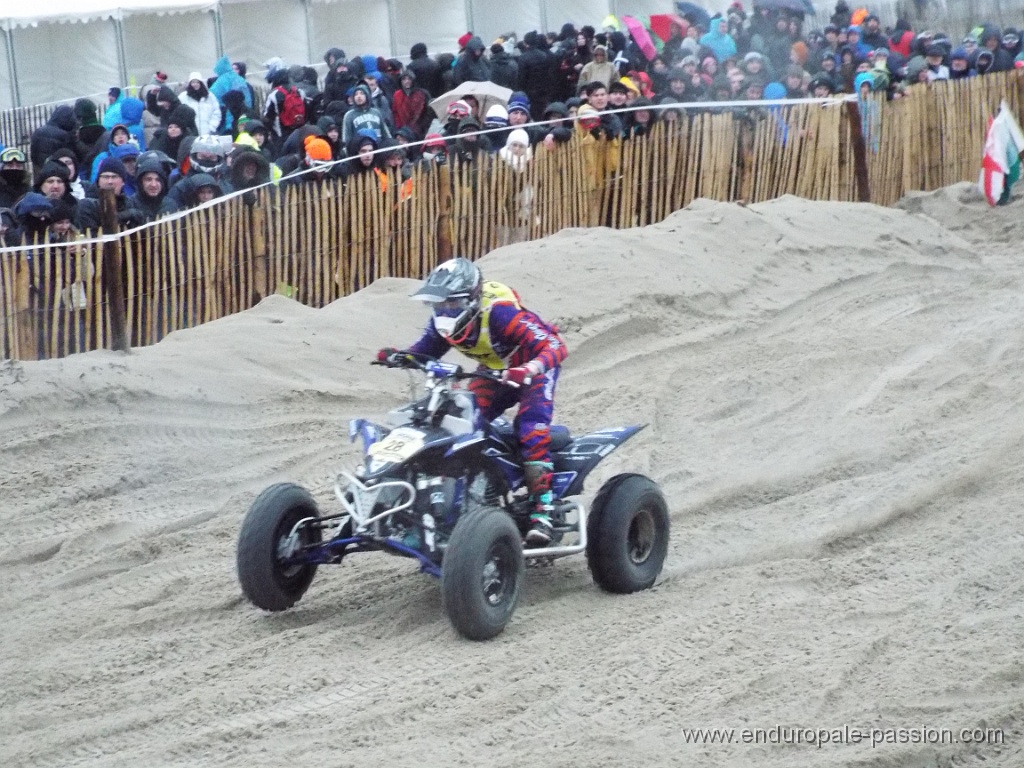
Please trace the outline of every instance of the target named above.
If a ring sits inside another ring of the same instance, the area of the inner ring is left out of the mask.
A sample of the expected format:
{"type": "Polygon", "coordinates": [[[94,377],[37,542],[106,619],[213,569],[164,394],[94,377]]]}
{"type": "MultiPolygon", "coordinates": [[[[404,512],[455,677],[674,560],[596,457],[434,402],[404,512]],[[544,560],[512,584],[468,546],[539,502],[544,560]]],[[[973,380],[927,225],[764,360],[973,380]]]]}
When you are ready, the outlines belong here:
{"type": "Polygon", "coordinates": [[[587,499],[643,472],[673,523],[652,590],[530,569],[487,643],[400,558],[273,615],[234,574],[256,494],[333,510],[347,420],[402,401],[367,364],[418,334],[415,282],[4,364],[0,765],[1019,768],[1022,206],[697,201],[485,257],[564,331],[557,421],[649,425],[587,499]],[[775,726],[1005,743],[738,743],[775,726]]]}

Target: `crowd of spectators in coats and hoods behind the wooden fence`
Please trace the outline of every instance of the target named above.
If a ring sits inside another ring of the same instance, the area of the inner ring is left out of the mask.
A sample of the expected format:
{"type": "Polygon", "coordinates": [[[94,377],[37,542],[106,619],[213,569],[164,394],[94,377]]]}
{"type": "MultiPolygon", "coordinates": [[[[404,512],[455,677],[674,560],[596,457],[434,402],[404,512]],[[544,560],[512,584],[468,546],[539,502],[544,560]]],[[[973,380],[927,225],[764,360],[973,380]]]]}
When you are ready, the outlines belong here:
{"type": "Polygon", "coordinates": [[[676,105],[688,102],[899,98],[910,84],[1024,66],[1013,28],[981,25],[957,42],[903,19],[884,30],[843,0],[823,29],[804,28],[801,13],[757,2],[748,13],[737,1],[721,14],[678,18],[650,57],[616,26],[571,24],[489,45],[466,33],[457,54],[431,56],[417,43],[406,63],[331,48],[323,81],[312,67],[265,62],[262,98],[245,62],[226,56],[210,76],[189,73],[180,90],[158,72],[137,97],[111,88],[101,119],[88,98],[57,106],[33,133],[30,157],[0,152],[0,238],[61,242],[96,229],[99,189],[114,190],[119,221],[134,226],[268,182],[376,173],[386,185],[389,170],[408,179],[414,164],[481,154],[519,169],[539,143],[574,132],[629,139],[684,119],[676,105]],[[473,85],[482,81],[512,95],[482,110],[473,85]],[[452,91],[461,97],[437,114],[431,101],[452,91]]]}

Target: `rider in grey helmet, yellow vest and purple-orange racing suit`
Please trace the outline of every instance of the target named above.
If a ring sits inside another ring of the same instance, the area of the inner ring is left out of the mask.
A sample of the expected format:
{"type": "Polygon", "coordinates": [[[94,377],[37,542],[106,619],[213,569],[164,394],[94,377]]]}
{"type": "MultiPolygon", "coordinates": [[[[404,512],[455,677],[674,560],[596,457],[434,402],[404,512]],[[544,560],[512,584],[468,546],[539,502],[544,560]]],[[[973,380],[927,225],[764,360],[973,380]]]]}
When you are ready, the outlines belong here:
{"type": "MultiPolygon", "coordinates": [[[[487,421],[519,404],[516,426],[526,487],[534,509],[526,543],[551,543],[551,414],[558,370],[568,350],[557,329],[524,308],[519,296],[501,283],[484,282],[472,261],[445,261],[412,298],[431,304],[430,322],[408,352],[440,357],[454,346],[480,364],[502,372],[502,381],[473,379],[469,385],[487,421]]],[[[384,348],[384,362],[402,352],[384,348]]]]}

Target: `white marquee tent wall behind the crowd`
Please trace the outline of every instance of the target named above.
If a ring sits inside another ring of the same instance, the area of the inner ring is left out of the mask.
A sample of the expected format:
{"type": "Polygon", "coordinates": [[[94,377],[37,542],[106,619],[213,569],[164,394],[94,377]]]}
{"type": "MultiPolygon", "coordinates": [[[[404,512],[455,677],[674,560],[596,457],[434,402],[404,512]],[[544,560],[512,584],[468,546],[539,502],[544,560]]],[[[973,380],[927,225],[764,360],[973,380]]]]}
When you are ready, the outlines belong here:
{"type": "MultiPolygon", "coordinates": [[[[701,3],[725,7],[727,0],[701,3]]],[[[212,74],[221,54],[250,72],[281,56],[316,63],[340,46],[349,56],[407,58],[414,43],[457,49],[467,30],[485,42],[565,22],[599,27],[608,13],[670,12],[672,0],[0,0],[4,56],[0,109],[103,94],[148,82],[212,74]]]]}

